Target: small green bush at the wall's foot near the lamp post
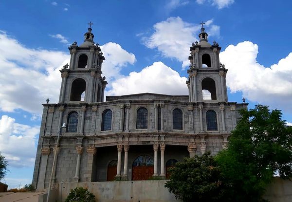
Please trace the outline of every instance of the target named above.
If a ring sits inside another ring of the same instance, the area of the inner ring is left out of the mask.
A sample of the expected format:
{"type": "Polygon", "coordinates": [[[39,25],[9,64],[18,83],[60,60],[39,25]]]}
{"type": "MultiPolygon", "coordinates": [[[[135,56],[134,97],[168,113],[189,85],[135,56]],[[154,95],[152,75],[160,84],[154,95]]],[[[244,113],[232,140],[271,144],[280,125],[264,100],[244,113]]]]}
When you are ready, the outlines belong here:
{"type": "Polygon", "coordinates": [[[95,202],[95,196],[83,187],[71,189],[65,202],[95,202]]]}

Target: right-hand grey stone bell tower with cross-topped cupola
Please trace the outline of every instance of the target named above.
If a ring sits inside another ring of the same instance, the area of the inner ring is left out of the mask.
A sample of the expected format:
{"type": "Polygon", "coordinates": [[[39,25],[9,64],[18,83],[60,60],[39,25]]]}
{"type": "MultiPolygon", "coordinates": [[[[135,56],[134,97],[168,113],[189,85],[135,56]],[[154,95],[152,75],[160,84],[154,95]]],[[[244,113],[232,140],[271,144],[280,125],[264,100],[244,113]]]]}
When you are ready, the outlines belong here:
{"type": "Polygon", "coordinates": [[[192,43],[189,79],[186,81],[189,91],[189,102],[228,102],[225,66],[219,61],[221,47],[214,41],[208,42],[208,34],[200,23],[200,42],[192,43]]]}

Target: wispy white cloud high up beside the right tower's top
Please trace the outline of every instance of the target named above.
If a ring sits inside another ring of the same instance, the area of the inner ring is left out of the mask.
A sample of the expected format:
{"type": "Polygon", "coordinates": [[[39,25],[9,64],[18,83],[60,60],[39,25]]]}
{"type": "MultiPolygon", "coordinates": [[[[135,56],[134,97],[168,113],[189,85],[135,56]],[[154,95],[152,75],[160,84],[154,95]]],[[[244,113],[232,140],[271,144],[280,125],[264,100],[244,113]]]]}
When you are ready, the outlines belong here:
{"type": "MultiPolygon", "coordinates": [[[[195,35],[200,33],[201,26],[185,22],[180,17],[171,17],[156,23],[153,27],[154,33],[143,38],[146,47],[157,48],[163,56],[176,58],[182,62],[183,69],[188,66],[189,47],[192,42],[198,40],[195,35]]],[[[206,22],[206,27],[211,27],[210,30],[206,30],[209,36],[219,36],[219,26],[213,24],[213,19],[206,22]]]]}

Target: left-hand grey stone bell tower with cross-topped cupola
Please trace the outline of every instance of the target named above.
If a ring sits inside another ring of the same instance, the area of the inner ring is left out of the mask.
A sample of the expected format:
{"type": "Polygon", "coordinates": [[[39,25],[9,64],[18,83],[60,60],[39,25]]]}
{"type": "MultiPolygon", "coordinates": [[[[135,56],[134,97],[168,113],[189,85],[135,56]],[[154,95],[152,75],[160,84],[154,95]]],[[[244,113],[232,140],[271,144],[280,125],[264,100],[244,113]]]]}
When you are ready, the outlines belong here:
{"type": "Polygon", "coordinates": [[[59,103],[103,102],[104,90],[108,82],[101,76],[102,62],[105,60],[98,43],[93,41],[91,25],[84,34],[84,42],[69,47],[70,65],[60,70],[62,84],[59,103]]]}

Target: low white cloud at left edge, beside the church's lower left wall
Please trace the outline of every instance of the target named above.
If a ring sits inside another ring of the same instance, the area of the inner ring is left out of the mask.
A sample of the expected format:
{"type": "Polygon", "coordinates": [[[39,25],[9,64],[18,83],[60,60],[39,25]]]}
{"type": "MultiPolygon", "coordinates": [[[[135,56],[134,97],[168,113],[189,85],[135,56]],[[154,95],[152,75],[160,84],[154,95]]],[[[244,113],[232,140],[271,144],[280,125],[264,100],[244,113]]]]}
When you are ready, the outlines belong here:
{"type": "Polygon", "coordinates": [[[39,126],[22,125],[3,115],[0,119],[0,151],[9,166],[31,166],[35,162],[39,126]]]}

